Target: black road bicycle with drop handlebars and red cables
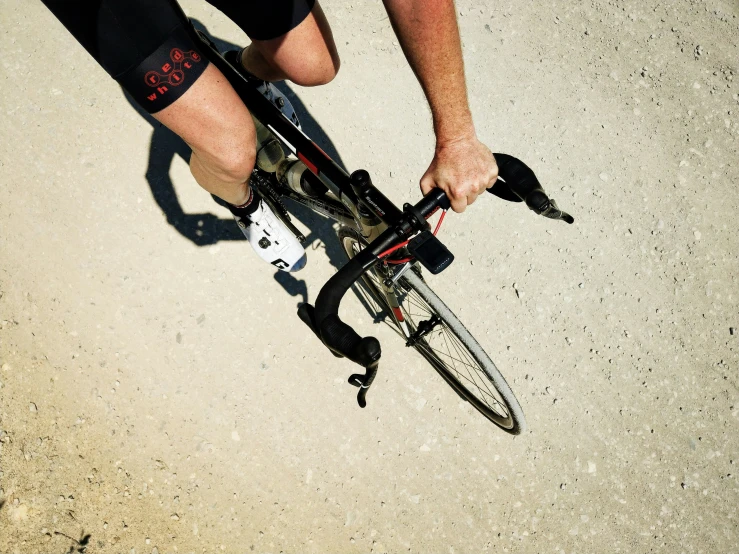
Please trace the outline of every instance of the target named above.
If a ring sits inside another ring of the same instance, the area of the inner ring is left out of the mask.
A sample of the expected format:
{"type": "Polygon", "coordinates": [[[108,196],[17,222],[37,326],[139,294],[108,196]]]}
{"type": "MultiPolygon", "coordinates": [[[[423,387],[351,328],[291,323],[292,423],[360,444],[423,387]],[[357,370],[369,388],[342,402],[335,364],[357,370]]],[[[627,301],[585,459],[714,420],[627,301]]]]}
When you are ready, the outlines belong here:
{"type": "MultiPolygon", "coordinates": [[[[323,285],[315,306],[300,306],[298,317],[334,356],[365,369],[364,374],[349,377],[349,383],[359,388],[359,406],[366,406],[381,357],[380,343],[374,337],[360,337],[338,313],[346,292],[361,281],[360,286],[407,347],[417,350],[461,398],[487,419],[508,433],[521,433],[526,426],[523,411],[505,378],[423,277],[422,268],[437,274],[454,259],[435,235],[450,207],[444,192],[437,189],[415,205],[405,204],[398,209],[374,187],[365,170],[347,174],[229,64],[207,35],[194,26],[191,31],[201,42],[205,56],[233,85],[257,125],[279,141],[279,152],[271,139],[260,144],[250,185],[301,242],[305,237],[291,223],[284,199],[340,224],[338,239],[348,262],[323,285]],[[278,169],[282,166],[273,164],[281,153],[284,157],[283,147],[309,172],[305,182],[301,178],[300,186],[290,186],[278,169]],[[264,163],[260,164],[260,156],[264,163]],[[270,169],[270,164],[274,171],[264,169],[270,169]],[[439,209],[443,210],[441,218],[431,233],[427,219],[439,209]]],[[[490,192],[505,200],[524,201],[545,217],[573,222],[549,199],[523,162],[505,154],[494,156],[500,177],[490,192]]]]}

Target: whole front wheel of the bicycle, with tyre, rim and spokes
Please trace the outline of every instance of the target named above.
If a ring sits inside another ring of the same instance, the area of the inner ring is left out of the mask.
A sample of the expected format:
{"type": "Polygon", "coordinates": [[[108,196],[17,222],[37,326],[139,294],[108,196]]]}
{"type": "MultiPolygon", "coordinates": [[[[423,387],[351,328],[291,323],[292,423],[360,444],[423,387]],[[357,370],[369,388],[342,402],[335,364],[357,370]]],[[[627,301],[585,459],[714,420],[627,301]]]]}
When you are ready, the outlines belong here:
{"type": "MultiPolygon", "coordinates": [[[[349,258],[366,246],[350,228],[339,229],[339,240],[349,258]]],[[[393,271],[378,264],[364,274],[361,285],[367,294],[360,298],[365,307],[376,320],[388,322],[482,415],[508,433],[521,433],[526,427],[521,406],[475,338],[426,284],[420,269],[411,267],[388,284],[393,271]]]]}

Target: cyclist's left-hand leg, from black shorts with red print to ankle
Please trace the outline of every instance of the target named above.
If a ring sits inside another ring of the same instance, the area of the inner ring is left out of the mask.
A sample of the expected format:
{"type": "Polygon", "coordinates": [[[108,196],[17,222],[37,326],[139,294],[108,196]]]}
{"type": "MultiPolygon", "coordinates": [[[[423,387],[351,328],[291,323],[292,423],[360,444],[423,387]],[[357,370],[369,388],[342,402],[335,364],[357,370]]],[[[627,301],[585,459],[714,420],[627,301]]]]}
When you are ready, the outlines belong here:
{"type": "Polygon", "coordinates": [[[43,0],[108,74],[192,148],[190,168],[231,204],[248,197],[256,133],[249,112],[167,0],[43,0]]]}

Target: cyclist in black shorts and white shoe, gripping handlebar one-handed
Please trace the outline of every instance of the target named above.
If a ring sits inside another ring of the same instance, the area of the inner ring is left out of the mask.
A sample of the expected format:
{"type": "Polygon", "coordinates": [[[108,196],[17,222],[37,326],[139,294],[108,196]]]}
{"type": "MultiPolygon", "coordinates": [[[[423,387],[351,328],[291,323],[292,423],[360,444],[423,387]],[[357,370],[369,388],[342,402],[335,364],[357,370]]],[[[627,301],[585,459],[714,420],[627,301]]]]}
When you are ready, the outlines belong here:
{"type": "MultiPolygon", "coordinates": [[[[190,146],[195,180],[246,224],[242,229],[257,254],[283,270],[302,268],[302,246],[249,187],[256,154],[249,112],[201,55],[176,2],[42,1],[111,77],[190,146]]],[[[316,86],[336,76],[339,55],[317,0],[207,1],[251,39],[248,47],[228,52],[229,61],[288,117],[292,107],[271,82],[316,86]]],[[[454,2],[384,4],[431,108],[436,148],[422,192],[441,188],[452,209],[463,212],[492,186],[498,169],[472,123],[454,2]]]]}

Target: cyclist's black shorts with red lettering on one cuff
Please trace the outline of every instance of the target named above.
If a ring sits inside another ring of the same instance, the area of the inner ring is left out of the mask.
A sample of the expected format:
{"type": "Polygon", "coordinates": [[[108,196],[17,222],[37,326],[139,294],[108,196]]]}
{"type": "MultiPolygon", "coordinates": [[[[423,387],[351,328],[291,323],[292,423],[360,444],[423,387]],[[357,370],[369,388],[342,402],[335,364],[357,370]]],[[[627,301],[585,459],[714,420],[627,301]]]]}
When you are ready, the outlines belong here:
{"type": "MultiPolygon", "coordinates": [[[[172,104],[208,61],[172,0],[42,0],[95,60],[149,113],[172,104]]],[[[252,40],[297,27],[315,0],[207,0],[252,40]]]]}

